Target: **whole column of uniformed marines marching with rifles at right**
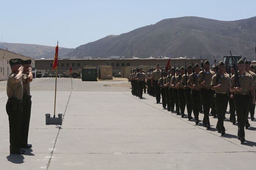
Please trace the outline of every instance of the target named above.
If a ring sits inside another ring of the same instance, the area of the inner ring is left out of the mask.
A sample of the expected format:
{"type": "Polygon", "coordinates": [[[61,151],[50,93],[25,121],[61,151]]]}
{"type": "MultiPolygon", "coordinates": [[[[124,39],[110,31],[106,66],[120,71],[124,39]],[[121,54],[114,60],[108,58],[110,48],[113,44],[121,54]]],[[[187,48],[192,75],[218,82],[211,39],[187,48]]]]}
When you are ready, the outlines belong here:
{"type": "MultiPolygon", "coordinates": [[[[202,125],[207,129],[211,128],[209,114],[217,117],[216,129],[221,135],[225,135],[224,120],[227,106],[229,104],[230,122],[236,124],[235,113],[238,122],[238,139],[243,143],[245,141],[244,129],[249,128],[248,116],[250,113],[251,121],[253,121],[255,113],[255,92],[256,92],[256,74],[255,67],[250,65],[250,61],[239,59],[237,65],[225,65],[223,61],[210,66],[208,60],[193,65],[193,62],[181,68],[164,67],[160,69],[159,64],[156,68],[147,69],[143,83],[147,84],[147,94],[156,97],[156,103],[161,103],[162,107],[170,112],[175,112],[181,117],[187,117],[189,120],[194,119],[195,124],[199,124],[200,107],[204,113],[202,125]],[[228,67],[229,74],[226,72],[228,67]],[[176,108],[175,108],[176,106],[176,108]],[[187,108],[187,116],[185,115],[185,107],[187,108]],[[211,112],[210,112],[211,109],[211,112]],[[192,112],[194,118],[192,117],[192,112]]],[[[136,68],[142,70],[142,68],[136,68]]],[[[129,80],[133,79],[131,73],[129,80]]],[[[141,79],[141,80],[142,80],[141,79]]],[[[136,83],[132,84],[132,94],[136,83]]],[[[139,87],[140,99],[142,99],[142,85],[139,87]]],[[[136,94],[134,94],[136,95],[136,94]]]]}

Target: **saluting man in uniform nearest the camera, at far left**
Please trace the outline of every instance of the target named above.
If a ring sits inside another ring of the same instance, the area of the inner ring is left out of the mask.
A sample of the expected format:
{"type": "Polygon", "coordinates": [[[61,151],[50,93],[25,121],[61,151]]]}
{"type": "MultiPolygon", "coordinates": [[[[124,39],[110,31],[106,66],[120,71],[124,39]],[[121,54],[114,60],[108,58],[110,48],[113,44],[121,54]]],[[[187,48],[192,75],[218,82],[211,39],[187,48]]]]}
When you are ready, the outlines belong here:
{"type": "Polygon", "coordinates": [[[7,96],[6,112],[9,118],[10,128],[10,154],[24,154],[21,151],[20,133],[21,133],[21,118],[22,118],[22,60],[14,58],[9,61],[11,65],[11,74],[7,79],[7,96]]]}

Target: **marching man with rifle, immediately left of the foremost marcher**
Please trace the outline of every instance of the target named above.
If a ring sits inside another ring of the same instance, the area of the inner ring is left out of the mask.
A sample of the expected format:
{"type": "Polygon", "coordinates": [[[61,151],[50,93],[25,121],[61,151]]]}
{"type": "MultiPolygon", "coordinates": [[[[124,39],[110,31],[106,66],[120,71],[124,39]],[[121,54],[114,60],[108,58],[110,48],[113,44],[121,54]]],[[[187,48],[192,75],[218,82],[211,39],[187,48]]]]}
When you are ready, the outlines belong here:
{"type": "Polygon", "coordinates": [[[212,86],[212,90],[215,90],[214,102],[215,102],[217,118],[218,118],[216,128],[219,133],[221,133],[222,135],[225,135],[223,112],[226,112],[226,108],[227,108],[230,77],[228,74],[224,73],[226,68],[223,61],[219,62],[218,67],[219,67],[220,75],[215,74],[212,76],[211,86],[212,86]]]}

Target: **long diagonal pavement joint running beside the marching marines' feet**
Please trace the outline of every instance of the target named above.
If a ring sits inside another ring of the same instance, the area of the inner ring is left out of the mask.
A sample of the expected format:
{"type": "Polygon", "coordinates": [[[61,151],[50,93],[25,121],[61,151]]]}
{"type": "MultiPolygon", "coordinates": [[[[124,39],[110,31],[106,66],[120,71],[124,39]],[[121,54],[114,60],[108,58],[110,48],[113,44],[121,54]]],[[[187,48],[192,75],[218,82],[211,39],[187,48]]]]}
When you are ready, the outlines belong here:
{"type": "MultiPolygon", "coordinates": [[[[122,93],[125,94],[125,95],[128,95],[129,97],[132,97],[132,98],[134,98],[134,99],[136,99],[136,100],[138,100],[138,101],[140,101],[140,102],[142,102],[142,103],[145,103],[145,102],[143,102],[142,100],[139,100],[137,97],[134,97],[134,96],[132,96],[132,95],[126,94],[125,92],[122,92],[122,93]]],[[[146,104],[146,105],[149,105],[149,106],[151,106],[151,107],[154,107],[154,106],[152,106],[152,105],[150,105],[150,104],[148,104],[148,103],[145,103],[145,104],[146,104]]],[[[157,109],[157,110],[160,110],[161,112],[164,112],[164,110],[162,110],[162,109],[159,109],[159,108],[157,108],[157,107],[154,107],[154,108],[157,109]]],[[[179,120],[182,120],[182,121],[184,121],[184,122],[186,122],[186,123],[188,123],[188,124],[190,124],[190,125],[192,125],[192,126],[197,127],[198,129],[202,129],[202,130],[205,131],[205,132],[211,133],[212,135],[217,136],[217,137],[219,137],[219,138],[221,138],[221,139],[223,139],[223,140],[226,140],[226,141],[228,141],[229,143],[232,143],[232,144],[234,144],[234,145],[236,145],[236,146],[239,146],[239,147],[241,147],[241,148],[243,148],[243,149],[245,149],[245,150],[247,150],[247,151],[249,151],[249,152],[253,152],[253,151],[248,150],[247,148],[245,148],[245,147],[242,146],[242,145],[246,145],[246,144],[238,145],[238,144],[236,144],[236,143],[234,143],[234,142],[232,142],[232,141],[229,141],[229,140],[225,139],[225,137],[222,137],[222,136],[219,136],[219,135],[216,135],[216,134],[212,133],[212,131],[209,131],[209,130],[206,130],[206,129],[201,128],[201,126],[193,125],[193,124],[190,123],[190,121],[185,121],[184,118],[182,118],[182,117],[177,117],[177,116],[172,115],[172,114],[167,113],[167,112],[164,112],[164,113],[165,113],[165,114],[169,114],[169,115],[171,115],[171,116],[173,116],[173,117],[176,117],[176,118],[178,118],[179,120]]]]}

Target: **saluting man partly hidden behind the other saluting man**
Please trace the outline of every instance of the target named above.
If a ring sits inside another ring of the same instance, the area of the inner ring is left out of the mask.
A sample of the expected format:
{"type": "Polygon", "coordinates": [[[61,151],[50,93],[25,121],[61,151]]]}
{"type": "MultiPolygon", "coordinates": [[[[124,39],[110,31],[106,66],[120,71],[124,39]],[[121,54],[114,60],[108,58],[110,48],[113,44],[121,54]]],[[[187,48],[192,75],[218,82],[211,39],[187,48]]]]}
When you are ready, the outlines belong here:
{"type": "Polygon", "coordinates": [[[21,148],[31,148],[32,145],[28,144],[28,135],[29,135],[29,121],[31,113],[31,95],[30,95],[30,82],[33,80],[32,68],[30,66],[31,60],[22,60],[23,74],[22,74],[22,83],[23,83],[23,110],[22,110],[22,119],[21,119],[21,148]]]}

